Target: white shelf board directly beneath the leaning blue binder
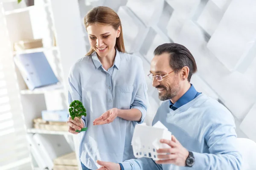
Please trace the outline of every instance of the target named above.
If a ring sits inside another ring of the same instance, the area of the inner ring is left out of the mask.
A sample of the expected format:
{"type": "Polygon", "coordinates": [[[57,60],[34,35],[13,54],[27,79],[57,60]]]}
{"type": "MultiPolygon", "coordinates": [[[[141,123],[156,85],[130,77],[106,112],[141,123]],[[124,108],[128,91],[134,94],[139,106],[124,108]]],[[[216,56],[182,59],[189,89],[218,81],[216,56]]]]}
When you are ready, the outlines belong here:
{"type": "Polygon", "coordinates": [[[41,88],[35,88],[34,90],[21,90],[20,94],[44,94],[50,91],[59,91],[59,92],[64,92],[63,85],[61,84],[55,84],[55,85],[49,85],[41,88]]]}

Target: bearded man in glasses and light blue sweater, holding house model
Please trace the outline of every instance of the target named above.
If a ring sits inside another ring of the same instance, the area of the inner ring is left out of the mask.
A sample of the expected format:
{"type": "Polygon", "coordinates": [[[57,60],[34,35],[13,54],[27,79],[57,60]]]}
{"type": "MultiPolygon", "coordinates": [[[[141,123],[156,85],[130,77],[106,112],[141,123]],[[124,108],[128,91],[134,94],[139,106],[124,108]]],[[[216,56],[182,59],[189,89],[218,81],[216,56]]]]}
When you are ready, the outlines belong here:
{"type": "Polygon", "coordinates": [[[99,170],[239,170],[241,155],[236,149],[233,116],[190,84],[197,71],[192,54],[183,45],[166,43],[154,55],[149,77],[164,102],[152,124],[160,121],[172,132],[172,140],[160,140],[170,148],[157,150],[164,153],[158,155],[159,161],[97,161],[102,165],[99,170]]]}

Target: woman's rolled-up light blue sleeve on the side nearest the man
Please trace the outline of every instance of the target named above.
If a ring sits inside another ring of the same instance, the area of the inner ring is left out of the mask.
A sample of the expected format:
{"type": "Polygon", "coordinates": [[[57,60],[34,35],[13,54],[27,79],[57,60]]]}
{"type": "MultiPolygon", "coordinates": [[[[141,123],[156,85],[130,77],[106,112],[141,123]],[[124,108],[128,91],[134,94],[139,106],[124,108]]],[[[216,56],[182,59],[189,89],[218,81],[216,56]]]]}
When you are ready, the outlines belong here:
{"type": "Polygon", "coordinates": [[[134,102],[131,104],[131,108],[140,110],[142,116],[141,116],[140,122],[138,123],[143,123],[146,116],[147,107],[148,107],[148,94],[147,94],[148,88],[145,81],[142,60],[140,59],[138,63],[139,63],[138,76],[137,76],[138,88],[135,94],[134,102]]]}

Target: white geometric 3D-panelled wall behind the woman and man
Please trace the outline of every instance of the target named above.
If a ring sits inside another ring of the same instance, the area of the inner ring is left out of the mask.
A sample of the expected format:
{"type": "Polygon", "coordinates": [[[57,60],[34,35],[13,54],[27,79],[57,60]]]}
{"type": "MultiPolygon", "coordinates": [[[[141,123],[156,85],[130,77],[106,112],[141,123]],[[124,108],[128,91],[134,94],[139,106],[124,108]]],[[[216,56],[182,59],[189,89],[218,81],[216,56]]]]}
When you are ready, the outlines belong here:
{"type": "MultiPolygon", "coordinates": [[[[246,137],[247,134],[256,140],[256,132],[247,132],[250,123],[255,121],[255,109],[252,108],[256,104],[255,0],[85,2],[91,7],[92,3],[109,7],[115,5],[113,8],[124,27],[127,52],[143,59],[145,76],[158,45],[165,42],[185,45],[198,65],[198,73],[191,80],[195,88],[217,99],[233,113],[239,137],[246,137]],[[246,123],[243,122],[239,129],[243,120],[246,123]]],[[[153,112],[161,102],[148,77],[146,79],[150,98],[150,113],[146,122],[150,124],[153,112]]]]}

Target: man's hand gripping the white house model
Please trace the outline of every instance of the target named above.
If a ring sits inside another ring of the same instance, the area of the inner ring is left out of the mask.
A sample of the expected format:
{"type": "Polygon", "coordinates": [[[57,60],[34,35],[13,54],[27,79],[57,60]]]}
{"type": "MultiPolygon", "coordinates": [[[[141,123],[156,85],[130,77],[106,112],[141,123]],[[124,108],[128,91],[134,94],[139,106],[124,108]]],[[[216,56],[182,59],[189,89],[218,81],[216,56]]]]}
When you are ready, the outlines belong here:
{"type": "Polygon", "coordinates": [[[157,158],[164,159],[155,161],[157,164],[175,164],[182,167],[186,165],[186,159],[189,156],[189,151],[180,144],[175,136],[172,135],[172,140],[161,139],[160,143],[168,144],[171,148],[157,150],[157,153],[167,153],[164,155],[157,155],[157,158]]]}

